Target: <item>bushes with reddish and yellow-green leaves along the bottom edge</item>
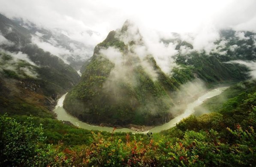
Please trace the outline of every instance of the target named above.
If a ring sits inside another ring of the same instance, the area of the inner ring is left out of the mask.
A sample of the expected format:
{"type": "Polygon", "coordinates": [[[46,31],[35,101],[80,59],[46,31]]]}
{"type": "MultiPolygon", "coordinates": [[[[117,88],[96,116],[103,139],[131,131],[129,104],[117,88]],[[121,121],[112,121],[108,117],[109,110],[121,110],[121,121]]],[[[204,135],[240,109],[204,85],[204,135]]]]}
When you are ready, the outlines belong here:
{"type": "MultiPolygon", "coordinates": [[[[186,131],[183,139],[161,136],[145,140],[141,137],[126,141],[105,139],[93,134],[93,143],[81,151],[66,154],[68,166],[238,166],[255,163],[255,132],[252,127],[232,131],[235,143],[222,142],[217,131],[186,131]]],[[[63,160],[61,160],[63,161],[63,160]]],[[[59,161],[58,161],[59,162],[59,161]]]]}

